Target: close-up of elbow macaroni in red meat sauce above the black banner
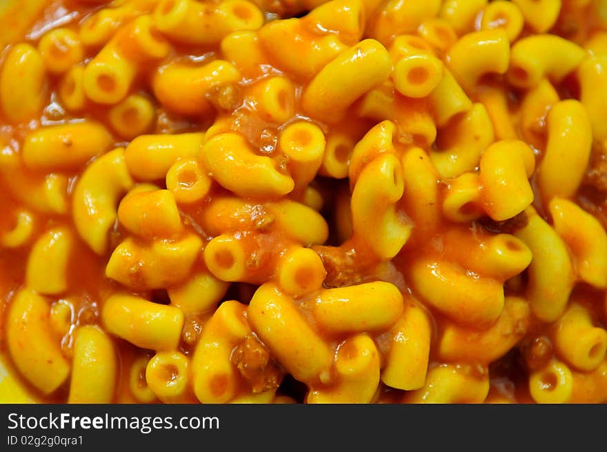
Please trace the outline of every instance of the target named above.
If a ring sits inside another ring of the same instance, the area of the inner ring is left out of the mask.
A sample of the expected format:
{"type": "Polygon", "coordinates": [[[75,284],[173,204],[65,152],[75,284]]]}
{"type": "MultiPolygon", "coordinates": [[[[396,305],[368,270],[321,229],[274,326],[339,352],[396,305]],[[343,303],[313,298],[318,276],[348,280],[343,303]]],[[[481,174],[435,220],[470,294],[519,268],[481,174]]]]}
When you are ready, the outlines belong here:
{"type": "Polygon", "coordinates": [[[1,403],[607,402],[607,2],[0,0],[1,403]]]}

